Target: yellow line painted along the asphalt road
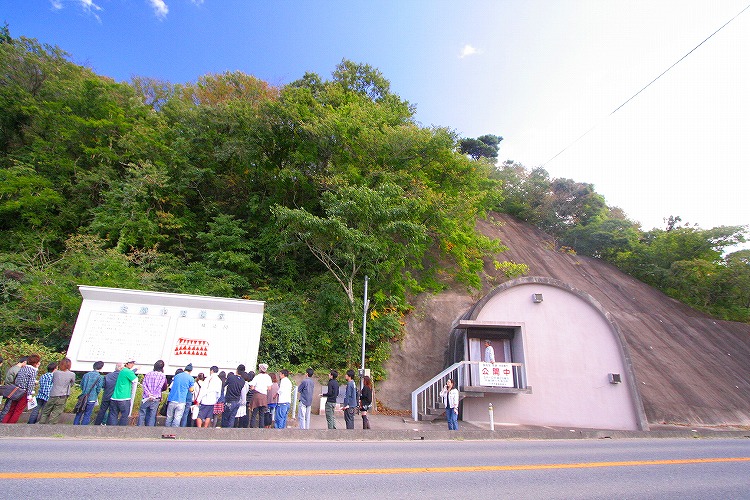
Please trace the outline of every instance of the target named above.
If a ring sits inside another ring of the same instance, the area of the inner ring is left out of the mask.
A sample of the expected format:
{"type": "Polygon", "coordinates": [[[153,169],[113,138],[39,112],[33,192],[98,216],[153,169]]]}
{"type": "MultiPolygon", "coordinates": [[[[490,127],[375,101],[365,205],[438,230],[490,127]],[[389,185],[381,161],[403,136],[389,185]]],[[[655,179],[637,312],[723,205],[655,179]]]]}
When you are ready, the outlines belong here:
{"type": "MultiPolygon", "coordinates": [[[[201,477],[336,476],[373,474],[433,474],[448,472],[499,472],[548,469],[591,469],[597,467],[636,467],[642,465],[714,464],[750,462],[750,457],[685,458],[675,460],[634,460],[628,462],[583,462],[572,464],[477,465],[468,467],[402,467],[389,469],[297,469],[201,471],[201,477]]],[[[195,471],[131,472],[0,472],[0,479],[102,479],[195,477],[195,471]]]]}

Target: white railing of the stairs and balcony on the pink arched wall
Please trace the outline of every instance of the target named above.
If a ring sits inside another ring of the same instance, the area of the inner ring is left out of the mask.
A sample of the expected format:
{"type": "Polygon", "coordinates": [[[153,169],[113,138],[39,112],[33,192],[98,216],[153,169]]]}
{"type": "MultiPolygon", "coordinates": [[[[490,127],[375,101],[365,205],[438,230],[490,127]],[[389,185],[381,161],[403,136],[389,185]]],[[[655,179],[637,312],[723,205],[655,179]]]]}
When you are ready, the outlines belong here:
{"type": "MultiPolygon", "coordinates": [[[[442,372],[438,373],[430,380],[419,386],[411,393],[411,416],[416,421],[419,415],[427,413],[428,408],[435,408],[436,404],[442,400],[440,391],[445,387],[448,379],[453,379],[459,391],[469,385],[479,385],[479,361],[460,361],[454,363],[442,372]],[[476,367],[476,373],[471,373],[471,369],[476,367]],[[476,382],[469,382],[476,379],[476,382]]],[[[526,374],[521,363],[508,363],[513,368],[513,387],[515,389],[526,388],[526,374]]]]}

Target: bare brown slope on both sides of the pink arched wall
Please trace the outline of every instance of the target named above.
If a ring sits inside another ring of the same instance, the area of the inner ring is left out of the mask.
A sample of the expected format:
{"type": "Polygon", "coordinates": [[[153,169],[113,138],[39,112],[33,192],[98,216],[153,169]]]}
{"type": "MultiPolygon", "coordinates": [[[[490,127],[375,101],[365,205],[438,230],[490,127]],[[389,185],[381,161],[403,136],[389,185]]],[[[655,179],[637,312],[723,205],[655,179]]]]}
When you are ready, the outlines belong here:
{"type": "MultiPolygon", "coordinates": [[[[478,228],[509,247],[497,260],[569,283],[612,314],[651,424],[750,425],[750,325],[713,319],[607,263],[555,251],[550,237],[531,225],[503,214],[493,218],[478,228]]],[[[490,263],[485,271],[488,282],[504,280],[490,263]]],[[[452,324],[477,299],[457,291],[419,297],[379,387],[384,404],[410,407],[411,391],[444,367],[452,324]]]]}

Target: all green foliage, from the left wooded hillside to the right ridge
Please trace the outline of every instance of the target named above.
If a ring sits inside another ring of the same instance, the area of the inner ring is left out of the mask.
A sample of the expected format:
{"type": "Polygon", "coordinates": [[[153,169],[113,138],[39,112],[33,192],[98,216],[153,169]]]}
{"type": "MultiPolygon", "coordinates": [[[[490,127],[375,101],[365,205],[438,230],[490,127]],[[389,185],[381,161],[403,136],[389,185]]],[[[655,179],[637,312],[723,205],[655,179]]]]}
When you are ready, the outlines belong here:
{"type": "MultiPolygon", "coordinates": [[[[240,72],[128,83],[0,33],[0,343],[64,350],[99,285],[266,301],[260,357],[380,377],[413,294],[478,289],[489,209],[697,307],[747,320],[740,228],[642,232],[593,186],[495,166],[502,137],[427,128],[376,69],[274,87],[240,72]]],[[[506,269],[523,273],[522,264],[506,269]]]]}

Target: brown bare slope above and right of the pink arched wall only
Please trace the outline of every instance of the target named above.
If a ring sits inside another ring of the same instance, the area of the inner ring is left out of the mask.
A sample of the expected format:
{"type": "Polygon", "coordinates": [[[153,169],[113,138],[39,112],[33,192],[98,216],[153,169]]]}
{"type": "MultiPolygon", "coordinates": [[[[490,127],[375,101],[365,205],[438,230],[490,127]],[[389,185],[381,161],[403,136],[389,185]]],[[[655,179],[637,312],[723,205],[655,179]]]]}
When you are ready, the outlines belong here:
{"type": "MultiPolygon", "coordinates": [[[[554,251],[551,238],[508,215],[478,223],[529,275],[583,290],[621,328],[652,424],[750,424],[750,325],[713,319],[598,259],[554,251]]],[[[490,271],[490,269],[488,269],[490,271]]],[[[494,272],[494,271],[492,271],[494,272]]]]}

